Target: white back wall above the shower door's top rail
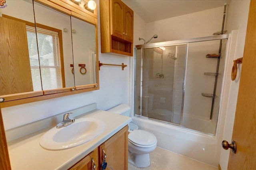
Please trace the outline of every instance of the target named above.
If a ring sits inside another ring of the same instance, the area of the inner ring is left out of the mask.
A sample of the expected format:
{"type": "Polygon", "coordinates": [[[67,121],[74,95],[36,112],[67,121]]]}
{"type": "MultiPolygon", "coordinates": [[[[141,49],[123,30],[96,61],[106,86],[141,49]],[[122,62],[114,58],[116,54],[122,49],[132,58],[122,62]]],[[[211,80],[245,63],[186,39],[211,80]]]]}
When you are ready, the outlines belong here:
{"type": "Polygon", "coordinates": [[[153,38],[150,43],[211,36],[221,30],[223,9],[218,7],[147,23],[146,40],[154,34],[158,38],[153,38]]]}

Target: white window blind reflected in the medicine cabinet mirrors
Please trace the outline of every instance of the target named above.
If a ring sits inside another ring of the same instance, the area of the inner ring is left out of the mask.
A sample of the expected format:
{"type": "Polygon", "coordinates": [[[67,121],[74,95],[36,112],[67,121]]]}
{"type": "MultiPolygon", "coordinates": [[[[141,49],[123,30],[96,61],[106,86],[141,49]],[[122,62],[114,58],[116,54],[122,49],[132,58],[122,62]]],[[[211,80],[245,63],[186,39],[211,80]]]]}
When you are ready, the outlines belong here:
{"type": "Polygon", "coordinates": [[[34,91],[62,87],[60,45],[57,32],[36,28],[40,69],[38,64],[35,28],[27,26],[30,67],[34,91]],[[30,52],[31,51],[31,52],[30,52]],[[41,71],[41,79],[40,79],[41,71]],[[42,80],[42,87],[41,86],[42,80]]]}

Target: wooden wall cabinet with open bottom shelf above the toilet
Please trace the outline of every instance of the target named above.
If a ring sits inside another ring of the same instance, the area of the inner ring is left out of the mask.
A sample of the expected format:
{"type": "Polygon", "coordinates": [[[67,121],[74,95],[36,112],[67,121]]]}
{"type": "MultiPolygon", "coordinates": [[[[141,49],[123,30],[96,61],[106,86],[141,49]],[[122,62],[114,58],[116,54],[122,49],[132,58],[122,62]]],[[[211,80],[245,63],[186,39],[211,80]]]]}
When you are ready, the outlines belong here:
{"type": "Polygon", "coordinates": [[[121,0],[100,0],[101,52],[133,56],[133,11],[121,0]]]}

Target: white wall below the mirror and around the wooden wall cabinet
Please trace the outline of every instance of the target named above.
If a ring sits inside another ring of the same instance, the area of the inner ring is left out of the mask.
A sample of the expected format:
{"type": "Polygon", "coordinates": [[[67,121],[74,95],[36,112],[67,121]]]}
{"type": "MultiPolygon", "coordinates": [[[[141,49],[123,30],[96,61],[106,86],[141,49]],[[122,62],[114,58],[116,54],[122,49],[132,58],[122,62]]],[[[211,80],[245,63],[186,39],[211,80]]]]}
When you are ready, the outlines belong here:
{"type": "MultiPolygon", "coordinates": [[[[98,28],[100,28],[100,10],[98,5],[98,28]]],[[[134,35],[145,35],[145,22],[141,22],[134,14],[134,35]]],[[[134,44],[138,44],[134,39],[134,44]]],[[[24,125],[39,119],[66,112],[90,103],[97,103],[98,109],[110,109],[120,103],[128,104],[132,91],[132,70],[129,67],[133,63],[133,57],[120,57],[100,53],[100,29],[98,29],[99,60],[102,63],[127,64],[128,67],[122,71],[121,67],[102,66],[100,68],[100,90],[59,97],[44,101],[38,101],[13,107],[2,108],[2,116],[5,129],[24,125]]],[[[132,103],[132,102],[130,102],[132,103]]]]}

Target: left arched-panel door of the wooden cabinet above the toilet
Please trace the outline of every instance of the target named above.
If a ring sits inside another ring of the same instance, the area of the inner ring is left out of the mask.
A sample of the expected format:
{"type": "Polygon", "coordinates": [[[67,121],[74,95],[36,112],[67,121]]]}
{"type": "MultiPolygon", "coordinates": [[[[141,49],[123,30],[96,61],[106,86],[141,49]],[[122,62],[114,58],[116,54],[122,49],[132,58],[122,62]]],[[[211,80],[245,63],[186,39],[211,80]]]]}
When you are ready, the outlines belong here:
{"type": "Polygon", "coordinates": [[[124,3],[121,0],[112,0],[112,30],[111,35],[124,38],[124,3]]]}

